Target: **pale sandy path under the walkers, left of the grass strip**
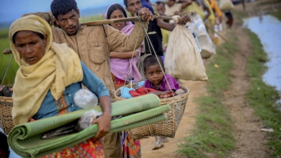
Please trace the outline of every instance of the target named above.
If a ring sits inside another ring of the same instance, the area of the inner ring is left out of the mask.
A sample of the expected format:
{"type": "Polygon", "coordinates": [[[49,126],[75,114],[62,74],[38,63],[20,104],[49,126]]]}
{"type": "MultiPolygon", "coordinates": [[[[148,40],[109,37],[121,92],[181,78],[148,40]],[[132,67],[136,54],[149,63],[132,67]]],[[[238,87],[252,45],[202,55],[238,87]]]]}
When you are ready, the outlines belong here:
{"type": "Polygon", "coordinates": [[[197,104],[194,103],[194,99],[198,96],[207,94],[206,82],[203,81],[182,81],[183,85],[190,89],[188,102],[185,108],[185,112],[181,123],[177,129],[175,138],[169,138],[169,142],[165,143],[165,146],[152,150],[155,144],[155,138],[150,137],[142,140],[142,157],[156,158],[156,157],[174,157],[175,151],[178,149],[178,144],[184,142],[184,138],[191,134],[194,129],[195,118],[197,114],[197,104]]]}

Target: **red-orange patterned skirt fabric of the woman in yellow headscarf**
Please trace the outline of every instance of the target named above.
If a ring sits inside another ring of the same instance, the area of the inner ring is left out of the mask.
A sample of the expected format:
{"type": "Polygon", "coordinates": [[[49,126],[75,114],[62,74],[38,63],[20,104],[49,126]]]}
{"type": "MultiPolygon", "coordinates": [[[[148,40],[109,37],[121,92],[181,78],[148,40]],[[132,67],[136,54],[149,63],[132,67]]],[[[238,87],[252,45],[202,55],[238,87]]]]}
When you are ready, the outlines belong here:
{"type": "MultiPolygon", "coordinates": [[[[61,96],[61,98],[57,101],[57,109],[58,114],[65,114],[68,113],[67,110],[67,103],[64,99],[64,95],[61,96]]],[[[49,157],[56,157],[56,158],[62,158],[62,157],[94,157],[94,158],[103,158],[104,157],[104,148],[103,148],[103,142],[99,138],[90,138],[83,142],[80,142],[76,145],[70,146],[68,148],[65,148],[61,151],[53,152],[50,154],[47,154],[43,156],[44,158],[49,157]]]]}

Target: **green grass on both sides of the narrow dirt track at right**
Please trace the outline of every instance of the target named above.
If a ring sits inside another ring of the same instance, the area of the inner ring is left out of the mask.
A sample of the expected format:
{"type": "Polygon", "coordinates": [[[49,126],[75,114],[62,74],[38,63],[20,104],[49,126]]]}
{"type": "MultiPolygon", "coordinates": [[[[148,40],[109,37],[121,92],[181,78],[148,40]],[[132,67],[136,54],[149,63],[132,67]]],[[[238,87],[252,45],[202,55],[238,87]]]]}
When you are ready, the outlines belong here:
{"type": "MultiPolygon", "coordinates": [[[[235,18],[242,25],[245,13],[235,12],[235,18]]],[[[281,11],[272,15],[281,19],[281,11]]],[[[251,40],[253,54],[248,58],[247,74],[250,78],[250,87],[246,100],[255,110],[255,114],[268,128],[274,132],[267,133],[270,157],[281,157],[281,103],[280,93],[262,81],[262,74],[266,70],[264,63],[267,61],[266,53],[258,37],[246,30],[251,40]]],[[[230,43],[217,47],[217,54],[206,66],[206,72],[211,86],[207,87],[208,96],[197,99],[199,114],[196,117],[197,128],[191,136],[186,137],[186,142],[180,145],[178,153],[183,157],[227,157],[227,154],[235,149],[235,140],[231,131],[231,117],[225,105],[221,102],[222,91],[230,82],[229,72],[232,67],[232,55],[237,51],[234,47],[236,35],[229,33],[230,43]],[[215,68],[214,64],[219,65],[215,68]],[[216,86],[212,86],[216,85],[216,86]]]]}

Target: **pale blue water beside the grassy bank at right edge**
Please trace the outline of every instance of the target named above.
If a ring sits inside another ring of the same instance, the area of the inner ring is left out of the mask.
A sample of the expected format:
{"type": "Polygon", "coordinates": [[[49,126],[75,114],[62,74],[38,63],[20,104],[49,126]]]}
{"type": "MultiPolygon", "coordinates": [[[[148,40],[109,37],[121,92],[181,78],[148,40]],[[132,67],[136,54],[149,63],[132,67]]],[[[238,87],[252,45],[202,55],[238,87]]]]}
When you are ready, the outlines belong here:
{"type": "Polygon", "coordinates": [[[281,92],[281,22],[270,15],[244,19],[244,27],[255,33],[269,59],[263,81],[281,92]]]}

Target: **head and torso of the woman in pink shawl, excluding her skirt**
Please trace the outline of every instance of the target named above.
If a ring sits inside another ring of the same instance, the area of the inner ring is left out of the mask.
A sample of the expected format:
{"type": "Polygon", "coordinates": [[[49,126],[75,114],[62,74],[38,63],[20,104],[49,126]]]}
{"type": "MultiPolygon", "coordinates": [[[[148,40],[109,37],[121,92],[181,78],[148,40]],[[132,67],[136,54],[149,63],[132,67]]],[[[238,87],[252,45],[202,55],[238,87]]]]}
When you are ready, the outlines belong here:
{"type": "MultiPolygon", "coordinates": [[[[104,17],[105,19],[120,19],[127,18],[127,15],[121,5],[113,4],[109,6],[104,17]]],[[[131,22],[118,22],[111,26],[124,34],[130,34],[134,25],[131,22]]],[[[136,48],[132,52],[110,52],[110,71],[115,89],[123,86],[129,77],[133,77],[135,81],[142,79],[137,69],[141,48],[136,48]]]]}

